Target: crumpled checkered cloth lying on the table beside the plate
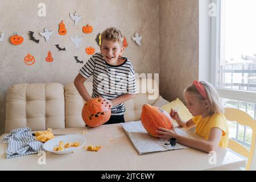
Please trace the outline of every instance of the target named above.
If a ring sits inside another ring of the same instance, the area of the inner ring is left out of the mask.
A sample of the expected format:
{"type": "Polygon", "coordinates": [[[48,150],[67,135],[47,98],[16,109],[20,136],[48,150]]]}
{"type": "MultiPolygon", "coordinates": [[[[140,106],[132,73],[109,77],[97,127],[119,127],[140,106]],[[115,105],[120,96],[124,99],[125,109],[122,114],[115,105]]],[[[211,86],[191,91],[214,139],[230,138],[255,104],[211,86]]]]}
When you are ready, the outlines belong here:
{"type": "Polygon", "coordinates": [[[44,150],[43,143],[35,140],[29,127],[11,130],[2,142],[8,144],[5,152],[7,159],[36,154],[44,150]]]}

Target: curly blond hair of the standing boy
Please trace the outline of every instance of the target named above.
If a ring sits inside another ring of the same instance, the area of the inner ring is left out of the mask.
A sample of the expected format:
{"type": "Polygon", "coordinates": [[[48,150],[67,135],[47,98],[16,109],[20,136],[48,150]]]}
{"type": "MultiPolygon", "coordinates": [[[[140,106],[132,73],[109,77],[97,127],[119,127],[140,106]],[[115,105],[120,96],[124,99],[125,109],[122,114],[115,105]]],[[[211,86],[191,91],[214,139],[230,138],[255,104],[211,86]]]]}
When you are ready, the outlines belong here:
{"type": "Polygon", "coordinates": [[[118,42],[119,44],[123,44],[123,35],[120,30],[115,27],[109,27],[104,30],[101,34],[101,43],[102,40],[112,40],[113,42],[118,42]]]}

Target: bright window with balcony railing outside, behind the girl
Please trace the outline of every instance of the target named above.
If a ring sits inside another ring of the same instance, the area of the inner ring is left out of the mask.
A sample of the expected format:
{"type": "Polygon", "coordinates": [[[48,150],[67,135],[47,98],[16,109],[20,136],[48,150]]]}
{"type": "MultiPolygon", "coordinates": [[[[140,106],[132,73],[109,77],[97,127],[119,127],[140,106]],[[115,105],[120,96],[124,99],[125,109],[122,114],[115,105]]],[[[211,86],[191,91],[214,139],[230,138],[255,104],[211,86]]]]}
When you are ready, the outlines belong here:
{"type": "MultiPolygon", "coordinates": [[[[256,1],[213,0],[211,82],[225,107],[256,119],[256,1]]],[[[250,146],[251,129],[230,124],[230,138],[250,146]]]]}

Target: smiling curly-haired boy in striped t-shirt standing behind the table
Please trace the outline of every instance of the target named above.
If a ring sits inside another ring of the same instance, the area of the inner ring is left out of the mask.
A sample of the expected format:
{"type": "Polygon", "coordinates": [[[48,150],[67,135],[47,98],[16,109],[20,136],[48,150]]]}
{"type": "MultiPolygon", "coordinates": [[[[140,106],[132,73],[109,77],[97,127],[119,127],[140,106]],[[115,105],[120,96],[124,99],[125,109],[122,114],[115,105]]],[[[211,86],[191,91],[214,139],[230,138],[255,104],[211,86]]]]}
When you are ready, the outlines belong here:
{"type": "Polygon", "coordinates": [[[85,101],[103,97],[109,101],[112,115],[105,124],[125,122],[123,102],[136,96],[137,86],[131,61],[122,55],[123,36],[117,28],[107,28],[101,34],[101,53],[95,53],[80,69],[74,84],[85,101]],[[84,82],[93,75],[93,93],[89,96],[84,82]]]}

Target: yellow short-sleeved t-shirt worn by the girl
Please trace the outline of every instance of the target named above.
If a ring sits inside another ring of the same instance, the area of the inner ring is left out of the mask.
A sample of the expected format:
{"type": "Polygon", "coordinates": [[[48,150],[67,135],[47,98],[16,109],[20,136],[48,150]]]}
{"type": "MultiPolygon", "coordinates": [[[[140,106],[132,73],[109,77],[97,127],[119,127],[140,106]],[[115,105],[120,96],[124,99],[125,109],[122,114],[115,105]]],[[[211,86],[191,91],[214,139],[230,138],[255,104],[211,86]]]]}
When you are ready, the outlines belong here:
{"type": "Polygon", "coordinates": [[[201,115],[197,115],[192,118],[192,121],[196,123],[196,131],[197,135],[208,140],[210,135],[210,129],[213,127],[217,127],[222,130],[222,137],[219,146],[222,148],[228,147],[229,141],[229,129],[226,123],[226,118],[223,114],[213,114],[212,116],[208,116],[203,118],[201,115]]]}

